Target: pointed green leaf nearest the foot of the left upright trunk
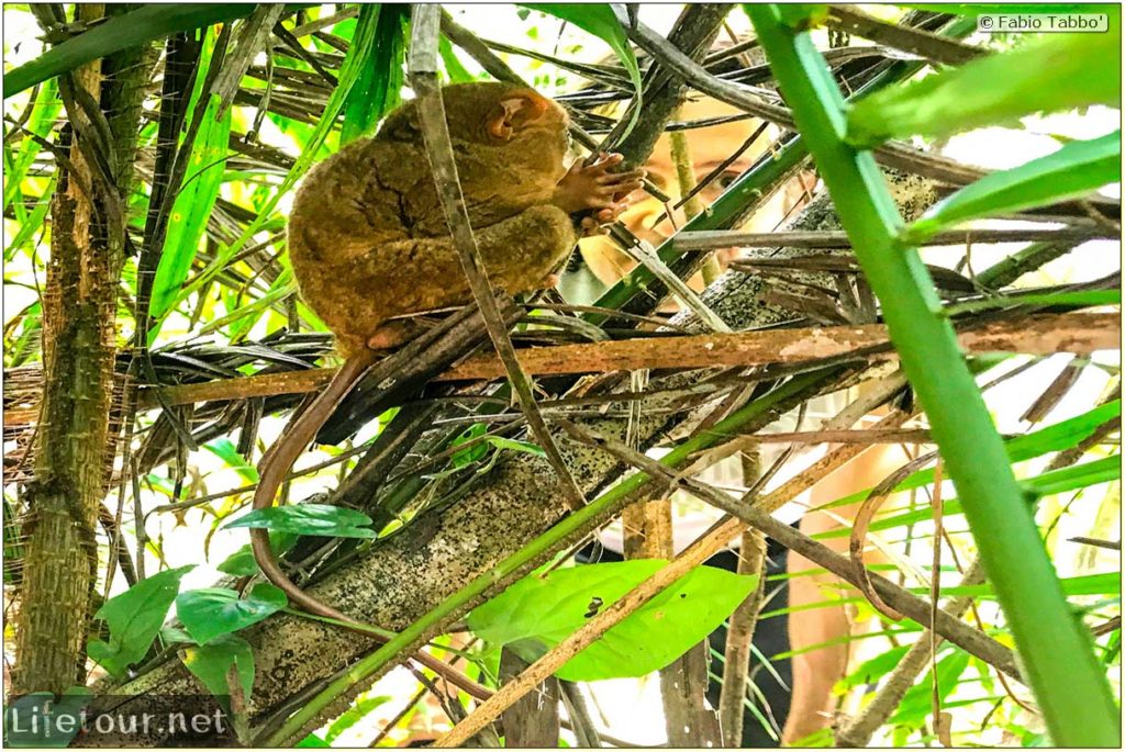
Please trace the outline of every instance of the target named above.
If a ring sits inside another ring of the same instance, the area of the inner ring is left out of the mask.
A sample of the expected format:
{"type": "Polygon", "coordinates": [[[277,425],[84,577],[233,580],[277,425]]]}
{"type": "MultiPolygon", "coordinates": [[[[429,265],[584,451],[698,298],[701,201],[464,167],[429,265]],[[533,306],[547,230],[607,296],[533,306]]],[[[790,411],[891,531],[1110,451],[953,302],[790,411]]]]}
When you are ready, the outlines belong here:
{"type": "Polygon", "coordinates": [[[124,678],[128,667],[148,652],[180,589],[180,579],[192,569],[195,564],[164,570],[104,602],[93,617],[109,626],[109,642],[92,640],[90,658],[124,678]]]}

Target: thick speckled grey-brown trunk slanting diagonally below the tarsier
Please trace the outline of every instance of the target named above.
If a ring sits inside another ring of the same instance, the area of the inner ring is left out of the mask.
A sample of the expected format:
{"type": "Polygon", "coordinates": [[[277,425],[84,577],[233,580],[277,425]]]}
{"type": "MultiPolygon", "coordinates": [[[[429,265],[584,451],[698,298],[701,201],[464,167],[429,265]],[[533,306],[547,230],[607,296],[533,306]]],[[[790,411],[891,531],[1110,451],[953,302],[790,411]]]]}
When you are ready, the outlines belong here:
{"type": "MultiPolygon", "coordinates": [[[[933,201],[933,188],[925,181],[897,181],[899,199],[917,214],[933,201]]],[[[799,229],[837,229],[838,221],[827,197],[814,200],[794,223],[799,229]]],[[[786,252],[783,252],[786,253],[786,252]]],[[[796,255],[799,252],[793,252],[796,255]]],[[[724,274],[705,293],[723,319],[734,328],[777,321],[786,314],[762,300],[764,281],[742,273],[724,274]]],[[[771,287],[776,287],[772,284],[771,287]]],[[[677,324],[691,325],[690,316],[677,324]]],[[[677,374],[662,386],[694,383],[699,372],[677,374]]],[[[651,400],[656,407],[659,402],[651,400]]],[[[641,446],[666,438],[686,422],[668,423],[642,409],[637,427],[641,446]]],[[[590,424],[597,433],[623,438],[623,420],[597,420],[590,424]]],[[[619,474],[619,465],[604,452],[577,445],[558,436],[559,449],[583,491],[592,493],[619,474]]],[[[497,463],[493,473],[477,489],[447,509],[421,515],[400,533],[380,541],[310,588],[318,599],[338,606],[360,620],[396,629],[416,619],[468,580],[489,572],[494,565],[554,525],[566,510],[556,490],[550,466],[525,454],[512,455],[497,463]]],[[[496,590],[504,583],[497,582],[496,590]]],[[[304,692],[315,689],[325,678],[345,670],[357,658],[369,653],[374,644],[328,625],[292,616],[274,616],[249,631],[246,640],[254,649],[256,674],[249,713],[252,724],[267,721],[269,714],[286,703],[300,703],[304,692]]],[[[375,677],[377,678],[377,677],[375,677]]],[[[359,692],[370,686],[356,686],[359,692]]],[[[156,665],[116,694],[145,696],[150,704],[174,695],[198,692],[195,680],[178,661],[156,665]]],[[[332,710],[346,707],[350,697],[341,697],[332,710]]],[[[128,705],[122,708],[128,709],[128,705]]],[[[114,740],[102,739],[108,744],[114,740]]],[[[166,735],[156,733],[122,736],[123,746],[166,744],[166,735]]]]}

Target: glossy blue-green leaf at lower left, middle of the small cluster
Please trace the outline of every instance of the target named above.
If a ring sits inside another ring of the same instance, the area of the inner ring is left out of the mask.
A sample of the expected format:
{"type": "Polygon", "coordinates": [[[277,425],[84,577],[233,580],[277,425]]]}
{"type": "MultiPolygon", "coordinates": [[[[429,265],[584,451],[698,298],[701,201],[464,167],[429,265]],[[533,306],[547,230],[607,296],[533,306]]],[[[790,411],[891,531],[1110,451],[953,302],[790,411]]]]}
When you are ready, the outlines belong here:
{"type": "Polygon", "coordinates": [[[260,583],[245,598],[226,588],[181,592],[176,599],[176,613],[191,638],[206,645],[215,637],[256,624],[288,605],[280,588],[260,583]]]}

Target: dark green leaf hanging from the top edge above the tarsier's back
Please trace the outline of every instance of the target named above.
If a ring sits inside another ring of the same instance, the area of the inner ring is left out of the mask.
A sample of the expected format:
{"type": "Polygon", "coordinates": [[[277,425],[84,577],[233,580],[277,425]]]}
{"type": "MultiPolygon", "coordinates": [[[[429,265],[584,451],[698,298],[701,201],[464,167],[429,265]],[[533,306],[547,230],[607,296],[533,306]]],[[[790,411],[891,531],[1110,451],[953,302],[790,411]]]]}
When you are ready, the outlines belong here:
{"type": "Polygon", "coordinates": [[[340,144],[375,130],[375,126],[402,100],[403,63],[406,60],[408,6],[364,4],[360,24],[375,24],[375,38],[363,51],[359,78],[344,100],[340,144]]]}

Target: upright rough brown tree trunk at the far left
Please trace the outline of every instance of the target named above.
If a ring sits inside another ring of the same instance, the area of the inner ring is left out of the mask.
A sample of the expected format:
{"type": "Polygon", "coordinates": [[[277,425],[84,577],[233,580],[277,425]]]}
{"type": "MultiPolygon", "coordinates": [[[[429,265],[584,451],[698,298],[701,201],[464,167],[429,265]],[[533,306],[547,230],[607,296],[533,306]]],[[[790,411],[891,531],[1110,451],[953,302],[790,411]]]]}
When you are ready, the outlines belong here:
{"type": "MultiPolygon", "coordinates": [[[[80,21],[126,6],[76,6],[80,21]]],[[[26,491],[21,605],[12,694],[61,692],[84,681],[94,525],[114,444],[117,295],[146,48],[69,74],[61,90],[70,132],[51,206],[51,262],[43,295],[44,390],[35,479],[26,491]],[[89,96],[86,110],[81,100],[89,96]],[[96,105],[94,105],[96,103],[96,105]],[[89,110],[89,111],[87,111],[89,110]],[[99,121],[100,120],[100,121],[99,121]],[[107,139],[106,136],[109,138],[107,139]],[[84,142],[84,143],[83,143],[84,142]]]]}

